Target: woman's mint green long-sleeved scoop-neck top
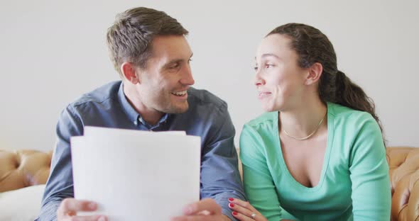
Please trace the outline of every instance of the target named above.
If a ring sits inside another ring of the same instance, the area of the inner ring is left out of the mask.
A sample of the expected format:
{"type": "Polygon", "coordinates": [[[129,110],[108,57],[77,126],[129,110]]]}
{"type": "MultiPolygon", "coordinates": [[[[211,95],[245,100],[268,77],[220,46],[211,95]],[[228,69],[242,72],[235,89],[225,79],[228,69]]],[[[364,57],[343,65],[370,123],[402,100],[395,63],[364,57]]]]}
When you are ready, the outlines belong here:
{"type": "Polygon", "coordinates": [[[327,147],[320,181],[312,188],[288,171],[278,112],[244,125],[240,158],[246,196],[268,220],[390,220],[386,150],[369,113],[327,103],[327,147]]]}

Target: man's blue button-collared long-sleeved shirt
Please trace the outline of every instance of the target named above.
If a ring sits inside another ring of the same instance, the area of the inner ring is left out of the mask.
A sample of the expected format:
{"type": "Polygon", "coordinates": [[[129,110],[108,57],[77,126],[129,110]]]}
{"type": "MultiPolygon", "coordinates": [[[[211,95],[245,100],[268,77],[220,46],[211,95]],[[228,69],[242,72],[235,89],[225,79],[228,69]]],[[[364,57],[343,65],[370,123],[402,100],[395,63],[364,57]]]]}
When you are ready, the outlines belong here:
{"type": "Polygon", "coordinates": [[[232,210],[228,207],[228,198],[245,198],[237,169],[235,131],[227,103],[208,91],[190,88],[187,91],[187,112],[165,114],[156,125],[148,125],[127,100],[123,87],[121,81],[111,82],[84,94],[62,111],[56,128],[57,142],[39,220],[56,220],[60,202],[64,198],[74,197],[70,137],[83,135],[85,126],[185,130],[187,135],[200,136],[200,197],[216,200],[222,206],[223,214],[234,220],[232,210]]]}

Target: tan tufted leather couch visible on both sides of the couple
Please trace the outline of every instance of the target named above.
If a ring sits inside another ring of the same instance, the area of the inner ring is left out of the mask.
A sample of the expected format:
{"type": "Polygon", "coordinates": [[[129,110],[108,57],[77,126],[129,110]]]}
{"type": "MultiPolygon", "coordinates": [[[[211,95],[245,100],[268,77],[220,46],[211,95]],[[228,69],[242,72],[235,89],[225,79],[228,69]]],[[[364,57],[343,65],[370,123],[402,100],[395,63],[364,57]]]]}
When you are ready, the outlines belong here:
{"type": "MultiPolygon", "coordinates": [[[[0,193],[45,183],[52,152],[0,150],[0,193]]],[[[419,148],[388,147],[391,220],[419,220],[419,148]]],[[[241,165],[240,165],[241,166],[241,165]]]]}

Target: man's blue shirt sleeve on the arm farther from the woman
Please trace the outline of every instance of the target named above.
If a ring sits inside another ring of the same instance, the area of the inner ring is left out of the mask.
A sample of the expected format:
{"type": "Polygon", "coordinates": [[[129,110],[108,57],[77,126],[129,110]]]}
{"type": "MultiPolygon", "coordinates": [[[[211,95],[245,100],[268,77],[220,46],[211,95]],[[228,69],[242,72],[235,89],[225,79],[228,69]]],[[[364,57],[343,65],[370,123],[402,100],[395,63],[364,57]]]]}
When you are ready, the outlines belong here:
{"type": "Polygon", "coordinates": [[[50,176],[45,186],[38,220],[57,220],[57,209],[61,201],[74,197],[70,137],[82,135],[82,123],[71,106],[62,111],[56,135],[50,176]]]}

